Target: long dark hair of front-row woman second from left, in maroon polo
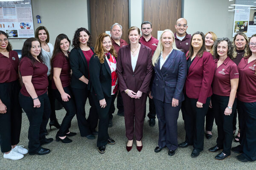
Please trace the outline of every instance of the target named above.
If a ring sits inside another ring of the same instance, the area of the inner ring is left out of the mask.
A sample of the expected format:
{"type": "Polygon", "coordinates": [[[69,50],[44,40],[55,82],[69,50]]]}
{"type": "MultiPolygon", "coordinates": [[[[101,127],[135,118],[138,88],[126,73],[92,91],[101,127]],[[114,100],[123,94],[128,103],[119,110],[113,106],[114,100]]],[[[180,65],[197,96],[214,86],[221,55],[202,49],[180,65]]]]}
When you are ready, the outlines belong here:
{"type": "MultiPolygon", "coordinates": [[[[36,59],[30,53],[33,41],[38,41],[38,40],[36,38],[32,37],[32,38],[28,38],[24,42],[22,50],[21,50],[21,58],[28,57],[32,61],[33,65],[34,65],[34,63],[36,62],[36,59]]],[[[40,41],[38,41],[38,42],[40,43],[40,41]]],[[[41,45],[41,43],[40,43],[40,45],[41,45]]],[[[40,54],[38,55],[37,58],[38,58],[38,60],[40,62],[44,62],[44,58],[42,57],[42,53],[41,52],[40,52],[40,54]]]]}

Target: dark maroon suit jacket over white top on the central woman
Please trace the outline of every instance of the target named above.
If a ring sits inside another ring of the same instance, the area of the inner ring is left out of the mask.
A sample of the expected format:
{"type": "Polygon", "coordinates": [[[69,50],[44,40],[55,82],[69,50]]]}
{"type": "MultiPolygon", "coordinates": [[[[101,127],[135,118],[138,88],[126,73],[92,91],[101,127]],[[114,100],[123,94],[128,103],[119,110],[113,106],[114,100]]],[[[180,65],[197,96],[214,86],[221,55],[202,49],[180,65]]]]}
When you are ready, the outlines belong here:
{"type": "Polygon", "coordinates": [[[131,45],[119,49],[116,66],[119,90],[130,89],[137,93],[147,93],[151,81],[153,65],[151,49],[141,44],[134,71],[131,67],[131,45]]]}

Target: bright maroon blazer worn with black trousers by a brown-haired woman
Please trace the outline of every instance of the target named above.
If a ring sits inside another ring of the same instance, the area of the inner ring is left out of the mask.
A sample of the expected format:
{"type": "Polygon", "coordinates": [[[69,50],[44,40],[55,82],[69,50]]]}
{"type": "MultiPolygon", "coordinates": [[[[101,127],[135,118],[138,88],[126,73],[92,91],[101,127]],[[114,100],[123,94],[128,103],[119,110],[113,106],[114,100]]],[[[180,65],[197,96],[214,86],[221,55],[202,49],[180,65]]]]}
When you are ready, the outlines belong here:
{"type": "MultiPolygon", "coordinates": [[[[187,57],[187,60],[189,57],[187,57]]],[[[215,65],[212,54],[204,51],[201,58],[195,57],[189,67],[185,83],[185,92],[189,98],[198,99],[198,102],[205,103],[207,97],[212,96],[212,79],[215,65]]]]}

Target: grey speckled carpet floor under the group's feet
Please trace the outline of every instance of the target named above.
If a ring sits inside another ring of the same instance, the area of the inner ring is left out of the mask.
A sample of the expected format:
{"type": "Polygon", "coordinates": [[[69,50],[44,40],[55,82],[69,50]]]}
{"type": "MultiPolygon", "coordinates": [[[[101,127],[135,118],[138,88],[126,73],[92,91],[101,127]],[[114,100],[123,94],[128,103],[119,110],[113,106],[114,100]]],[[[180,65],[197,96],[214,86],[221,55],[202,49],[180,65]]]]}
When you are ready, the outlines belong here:
{"type": "MultiPolygon", "coordinates": [[[[89,104],[86,105],[86,113],[89,112],[89,104]]],[[[127,138],[125,137],[124,117],[113,114],[113,127],[108,129],[109,135],[116,141],[114,145],[107,145],[106,152],[100,154],[96,147],[96,139],[89,140],[81,137],[77,125],[76,116],[72,120],[70,131],[78,133],[70,137],[70,144],[56,142],[57,129],[49,130],[48,136],[54,138],[50,144],[43,145],[51,152],[44,156],[31,156],[26,154],[23,159],[12,161],[0,156],[0,170],[256,170],[256,161],[243,163],[236,159],[238,154],[231,152],[231,156],[225,160],[218,161],[214,157],[218,153],[210,153],[209,147],[215,146],[217,138],[217,127],[214,124],[209,140],[204,139],[204,150],[197,158],[190,156],[192,146],[178,148],[174,156],[168,156],[167,148],[160,153],[154,153],[158,141],[158,124],[149,127],[148,117],[144,121],[143,149],[138,152],[134,140],[130,152],[125,149],[127,138]]],[[[148,106],[147,106],[148,113],[148,106]]],[[[65,110],[56,111],[57,119],[62,121],[65,110]]],[[[88,115],[87,115],[88,116],[88,115]]],[[[157,120],[157,119],[156,119],[157,120]]],[[[19,145],[28,146],[29,122],[26,113],[22,116],[22,129],[19,145]]],[[[178,119],[178,142],[185,140],[184,123],[182,115],[178,119]]],[[[233,146],[238,143],[233,142],[233,146]]]]}

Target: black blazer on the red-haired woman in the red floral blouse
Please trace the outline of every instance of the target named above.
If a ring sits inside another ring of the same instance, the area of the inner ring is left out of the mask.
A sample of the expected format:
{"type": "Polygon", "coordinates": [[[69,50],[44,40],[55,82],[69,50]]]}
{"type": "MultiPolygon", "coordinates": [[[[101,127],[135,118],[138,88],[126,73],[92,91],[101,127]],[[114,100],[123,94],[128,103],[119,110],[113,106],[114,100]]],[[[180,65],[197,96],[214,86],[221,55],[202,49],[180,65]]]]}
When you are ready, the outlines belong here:
{"type": "Polygon", "coordinates": [[[101,64],[99,57],[93,54],[89,62],[89,71],[88,89],[96,94],[99,100],[105,99],[105,96],[111,97],[111,70],[107,60],[105,59],[101,64]]]}

